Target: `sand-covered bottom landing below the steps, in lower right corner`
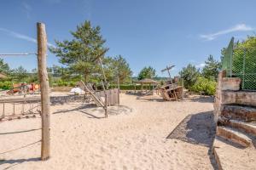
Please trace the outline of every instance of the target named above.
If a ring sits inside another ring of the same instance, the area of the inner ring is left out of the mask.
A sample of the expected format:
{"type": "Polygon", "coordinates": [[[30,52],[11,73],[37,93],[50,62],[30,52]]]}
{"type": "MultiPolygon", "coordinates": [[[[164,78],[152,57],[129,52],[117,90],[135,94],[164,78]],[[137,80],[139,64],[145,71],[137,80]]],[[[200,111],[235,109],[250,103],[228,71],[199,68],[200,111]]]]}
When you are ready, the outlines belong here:
{"type": "Polygon", "coordinates": [[[256,150],[241,149],[215,137],[212,151],[219,170],[255,170],[256,150]]]}

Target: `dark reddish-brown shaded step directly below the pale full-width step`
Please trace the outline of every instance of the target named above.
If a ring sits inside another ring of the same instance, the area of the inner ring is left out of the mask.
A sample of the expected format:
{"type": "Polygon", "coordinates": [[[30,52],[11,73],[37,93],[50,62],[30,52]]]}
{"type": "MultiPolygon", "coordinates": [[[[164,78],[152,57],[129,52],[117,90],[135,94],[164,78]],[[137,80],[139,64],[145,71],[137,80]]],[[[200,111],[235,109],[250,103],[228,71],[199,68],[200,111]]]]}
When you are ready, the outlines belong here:
{"type": "Polygon", "coordinates": [[[224,105],[221,115],[229,119],[256,121],[256,108],[242,105],[224,105]]]}

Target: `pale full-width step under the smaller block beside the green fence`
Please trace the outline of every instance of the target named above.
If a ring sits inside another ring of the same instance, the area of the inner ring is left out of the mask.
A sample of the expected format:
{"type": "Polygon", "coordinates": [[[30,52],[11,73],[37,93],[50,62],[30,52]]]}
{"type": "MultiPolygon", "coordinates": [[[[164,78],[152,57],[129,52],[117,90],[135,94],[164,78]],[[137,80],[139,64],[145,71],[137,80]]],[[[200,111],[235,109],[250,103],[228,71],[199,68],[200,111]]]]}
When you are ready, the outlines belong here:
{"type": "Polygon", "coordinates": [[[237,104],[256,107],[256,92],[224,90],[221,93],[222,104],[237,104]]]}

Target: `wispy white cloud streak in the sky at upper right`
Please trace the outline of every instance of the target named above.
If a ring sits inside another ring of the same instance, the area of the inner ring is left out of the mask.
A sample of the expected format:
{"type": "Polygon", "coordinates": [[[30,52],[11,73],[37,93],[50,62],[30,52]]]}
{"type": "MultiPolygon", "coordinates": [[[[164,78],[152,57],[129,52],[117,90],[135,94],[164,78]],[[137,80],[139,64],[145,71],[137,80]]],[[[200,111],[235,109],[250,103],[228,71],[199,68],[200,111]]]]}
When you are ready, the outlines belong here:
{"type": "Polygon", "coordinates": [[[202,34],[202,35],[200,35],[200,37],[206,41],[212,41],[221,35],[229,34],[231,32],[235,32],[235,31],[253,31],[253,27],[247,26],[245,24],[239,24],[239,25],[233,26],[229,29],[217,31],[215,33],[202,34]]]}

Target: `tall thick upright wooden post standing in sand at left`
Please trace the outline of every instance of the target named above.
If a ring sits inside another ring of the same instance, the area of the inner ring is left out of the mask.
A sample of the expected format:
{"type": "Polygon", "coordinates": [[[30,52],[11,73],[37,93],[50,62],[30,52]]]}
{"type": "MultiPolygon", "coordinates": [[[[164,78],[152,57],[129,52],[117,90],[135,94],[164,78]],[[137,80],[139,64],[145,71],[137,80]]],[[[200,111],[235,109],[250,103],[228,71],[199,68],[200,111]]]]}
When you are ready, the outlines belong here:
{"type": "Polygon", "coordinates": [[[38,27],[38,77],[41,88],[41,116],[42,116],[42,141],[41,141],[41,160],[49,158],[49,144],[50,144],[50,112],[49,112],[49,78],[47,73],[47,37],[45,25],[37,23],[38,27]]]}

